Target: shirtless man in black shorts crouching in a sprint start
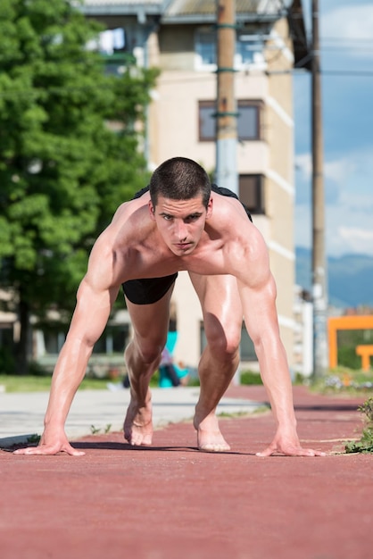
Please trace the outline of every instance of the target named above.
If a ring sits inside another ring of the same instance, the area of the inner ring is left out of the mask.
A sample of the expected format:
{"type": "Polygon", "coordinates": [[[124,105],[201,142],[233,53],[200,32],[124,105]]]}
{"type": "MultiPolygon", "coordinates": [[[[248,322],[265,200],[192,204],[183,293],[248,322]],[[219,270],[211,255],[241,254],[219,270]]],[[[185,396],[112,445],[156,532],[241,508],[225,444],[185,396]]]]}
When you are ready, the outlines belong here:
{"type": "Polygon", "coordinates": [[[64,425],[122,284],[134,330],[125,351],[131,397],[124,436],[131,445],[151,445],[149,381],[161,360],[170,297],[181,270],[189,272],[200,299],[207,338],[198,368],[201,388],[194,419],[198,448],[229,449],[215,411],[238,366],[244,316],[277,425],[272,443],[259,455],[323,454],[303,448],[297,436],[267,247],[236,196],[216,190],[211,192],[200,165],[176,157],[153,172],[150,192],[145,188],[120,205],[96,240],[79,286],[70,330],[54,369],[43,436],[37,447],[17,454],[84,454],[70,446],[64,425]]]}

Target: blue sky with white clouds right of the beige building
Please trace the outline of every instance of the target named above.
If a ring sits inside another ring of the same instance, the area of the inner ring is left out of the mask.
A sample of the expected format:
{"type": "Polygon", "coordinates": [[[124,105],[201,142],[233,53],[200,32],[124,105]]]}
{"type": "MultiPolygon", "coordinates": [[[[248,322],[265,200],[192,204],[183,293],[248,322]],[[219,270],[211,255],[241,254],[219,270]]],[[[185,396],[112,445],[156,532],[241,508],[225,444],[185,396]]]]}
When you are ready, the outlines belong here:
{"type": "MultiPolygon", "coordinates": [[[[311,0],[303,7],[311,20],[311,0]]],[[[373,1],[319,0],[319,33],[326,251],[373,256],[373,1]]],[[[310,247],[309,74],[294,76],[294,120],[295,245],[310,247]]]]}

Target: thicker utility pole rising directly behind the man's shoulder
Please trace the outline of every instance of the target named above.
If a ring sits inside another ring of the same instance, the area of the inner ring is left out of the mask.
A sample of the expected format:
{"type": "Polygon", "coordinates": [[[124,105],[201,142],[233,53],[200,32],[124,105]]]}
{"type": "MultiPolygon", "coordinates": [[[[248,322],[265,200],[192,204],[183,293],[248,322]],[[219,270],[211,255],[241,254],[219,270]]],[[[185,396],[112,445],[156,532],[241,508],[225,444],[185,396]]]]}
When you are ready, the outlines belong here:
{"type": "Polygon", "coordinates": [[[216,0],[217,103],[216,182],[238,196],[236,169],[237,123],[235,97],[236,0],[216,0]]]}

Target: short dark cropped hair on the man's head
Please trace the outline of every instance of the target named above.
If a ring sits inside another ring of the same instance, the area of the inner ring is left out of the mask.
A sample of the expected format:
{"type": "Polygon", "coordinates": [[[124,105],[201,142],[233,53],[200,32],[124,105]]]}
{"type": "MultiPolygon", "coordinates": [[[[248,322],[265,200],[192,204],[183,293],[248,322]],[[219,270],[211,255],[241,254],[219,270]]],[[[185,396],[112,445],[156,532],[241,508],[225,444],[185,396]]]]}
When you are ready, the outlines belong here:
{"type": "Polygon", "coordinates": [[[153,172],[150,179],[150,197],[155,207],[158,196],[171,200],[189,200],[199,194],[207,208],[211,196],[211,182],[206,171],[187,157],[172,157],[153,172]]]}

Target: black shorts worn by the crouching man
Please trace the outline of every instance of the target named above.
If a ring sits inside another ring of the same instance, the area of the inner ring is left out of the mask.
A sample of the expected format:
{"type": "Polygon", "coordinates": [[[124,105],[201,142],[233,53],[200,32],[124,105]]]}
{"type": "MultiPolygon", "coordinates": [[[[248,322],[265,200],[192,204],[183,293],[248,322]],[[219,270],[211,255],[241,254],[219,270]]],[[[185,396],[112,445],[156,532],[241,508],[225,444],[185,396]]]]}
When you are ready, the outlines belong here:
{"type": "MultiPolygon", "coordinates": [[[[228,188],[220,188],[217,185],[211,185],[212,192],[220,194],[221,196],[229,196],[239,200],[238,196],[228,188]]],[[[145,192],[149,191],[149,187],[142,188],[134,196],[134,200],[143,196],[145,192]]],[[[241,202],[242,204],[242,202],[241,202]]],[[[245,212],[250,221],[252,216],[245,206],[245,212]]],[[[143,278],[139,280],[128,280],[122,284],[124,295],[128,298],[128,301],[134,303],[135,305],[152,305],[156,303],[162,296],[165,296],[167,291],[170,289],[172,284],[176,281],[178,277],[178,272],[171,274],[170,276],[164,276],[163,278],[143,278]]]]}

